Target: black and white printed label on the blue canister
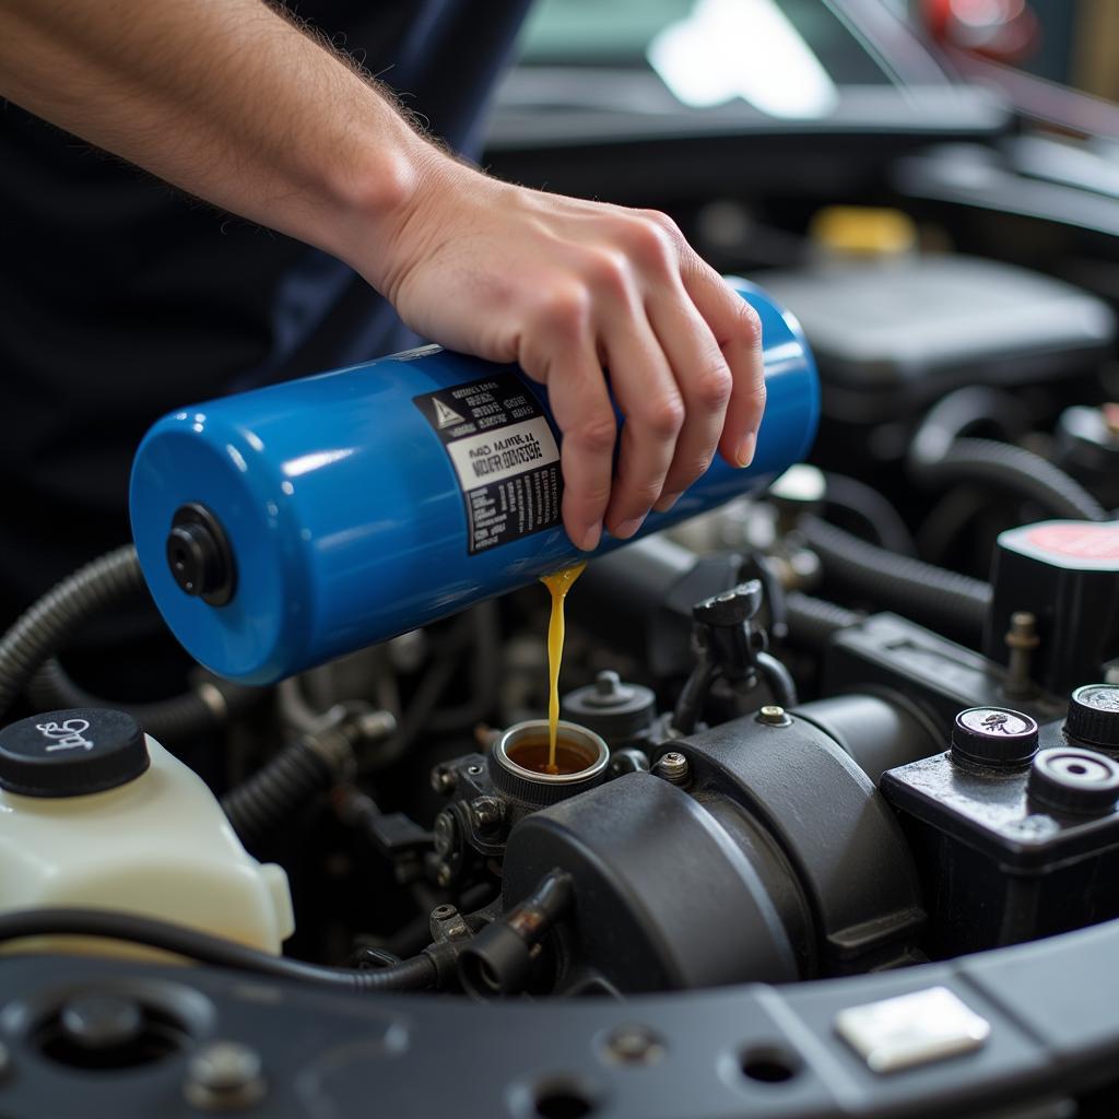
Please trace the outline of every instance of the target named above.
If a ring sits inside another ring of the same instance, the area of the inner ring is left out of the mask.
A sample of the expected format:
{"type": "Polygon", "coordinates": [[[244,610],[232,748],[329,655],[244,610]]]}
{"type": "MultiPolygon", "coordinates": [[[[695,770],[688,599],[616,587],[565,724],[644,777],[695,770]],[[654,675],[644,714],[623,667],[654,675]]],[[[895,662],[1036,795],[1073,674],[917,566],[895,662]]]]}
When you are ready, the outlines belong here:
{"type": "Polygon", "coordinates": [[[469,555],[560,524],[560,448],[536,397],[514,374],[412,399],[462,489],[469,555]]]}

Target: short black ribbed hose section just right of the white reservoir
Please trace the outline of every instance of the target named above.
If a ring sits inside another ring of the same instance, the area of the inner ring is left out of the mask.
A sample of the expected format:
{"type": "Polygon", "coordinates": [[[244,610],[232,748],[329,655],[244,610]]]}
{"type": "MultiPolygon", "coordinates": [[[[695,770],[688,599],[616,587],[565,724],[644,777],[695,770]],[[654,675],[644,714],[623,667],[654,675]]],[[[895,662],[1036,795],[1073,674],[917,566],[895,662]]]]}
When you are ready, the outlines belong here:
{"type": "Polygon", "coordinates": [[[330,764],[313,746],[295,742],[231,789],[222,808],[241,841],[252,849],[335,780],[330,764]]]}

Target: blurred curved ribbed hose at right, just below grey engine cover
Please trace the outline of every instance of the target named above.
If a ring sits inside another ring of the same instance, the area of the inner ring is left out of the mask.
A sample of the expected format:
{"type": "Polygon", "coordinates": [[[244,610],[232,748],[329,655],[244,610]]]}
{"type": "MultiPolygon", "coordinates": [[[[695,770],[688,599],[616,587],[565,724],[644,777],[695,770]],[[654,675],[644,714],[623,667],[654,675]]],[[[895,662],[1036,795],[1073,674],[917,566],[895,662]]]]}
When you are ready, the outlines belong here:
{"type": "Polygon", "coordinates": [[[1074,478],[1033,451],[993,439],[957,439],[941,458],[911,460],[918,480],[930,485],[993,482],[1041,505],[1053,517],[1108,520],[1108,514],[1074,478]]]}

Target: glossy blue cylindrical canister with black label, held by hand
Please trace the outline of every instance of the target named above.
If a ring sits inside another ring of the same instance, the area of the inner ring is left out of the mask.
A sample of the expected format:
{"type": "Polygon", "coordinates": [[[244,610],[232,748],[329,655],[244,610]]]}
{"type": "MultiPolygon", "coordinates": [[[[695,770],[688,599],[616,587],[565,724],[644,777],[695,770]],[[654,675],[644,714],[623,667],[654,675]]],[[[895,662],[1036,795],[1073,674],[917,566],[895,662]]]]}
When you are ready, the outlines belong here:
{"type": "MultiPolygon", "coordinates": [[[[762,323],[754,460],[716,458],[638,537],[764,488],[811,445],[819,386],[800,328],[734,286],[762,323]]],[[[266,684],[586,558],[561,523],[560,442],[516,366],[424,347],[160,420],[133,463],[132,532],[186,649],[266,684]]],[[[624,543],[604,534],[595,554],[624,543]]]]}

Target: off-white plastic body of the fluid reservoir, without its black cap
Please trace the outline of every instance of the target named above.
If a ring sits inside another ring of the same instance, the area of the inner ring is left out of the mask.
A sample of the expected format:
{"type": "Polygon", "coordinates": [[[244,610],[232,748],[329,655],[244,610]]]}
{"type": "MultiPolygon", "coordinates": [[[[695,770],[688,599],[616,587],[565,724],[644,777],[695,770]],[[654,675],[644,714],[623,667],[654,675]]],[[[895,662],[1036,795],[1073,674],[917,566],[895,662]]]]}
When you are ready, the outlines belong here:
{"type": "Polygon", "coordinates": [[[294,929],[288,876],[248,855],[201,778],[153,739],[147,746],[148,770],[104,792],[0,791],[0,910],[123,910],[278,953],[294,929]]]}

